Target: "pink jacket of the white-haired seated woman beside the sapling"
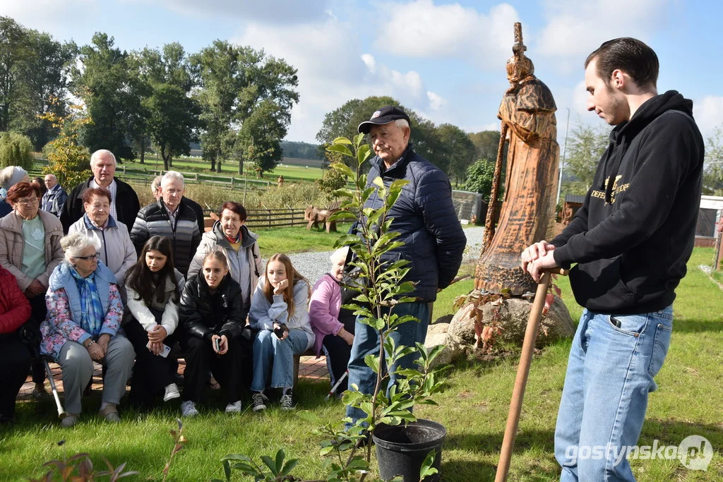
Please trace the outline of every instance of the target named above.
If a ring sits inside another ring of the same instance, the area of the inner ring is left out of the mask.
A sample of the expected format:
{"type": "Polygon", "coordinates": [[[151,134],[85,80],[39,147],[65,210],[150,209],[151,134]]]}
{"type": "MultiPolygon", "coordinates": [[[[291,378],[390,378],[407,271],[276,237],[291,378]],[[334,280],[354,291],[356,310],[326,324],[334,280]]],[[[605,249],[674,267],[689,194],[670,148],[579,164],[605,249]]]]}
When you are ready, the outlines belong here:
{"type": "Polygon", "coordinates": [[[316,335],[314,351],[320,357],[321,345],[326,335],[336,335],[344,325],[339,321],[341,308],[341,288],[329,274],[319,278],[314,285],[309,301],[309,322],[316,335]]]}

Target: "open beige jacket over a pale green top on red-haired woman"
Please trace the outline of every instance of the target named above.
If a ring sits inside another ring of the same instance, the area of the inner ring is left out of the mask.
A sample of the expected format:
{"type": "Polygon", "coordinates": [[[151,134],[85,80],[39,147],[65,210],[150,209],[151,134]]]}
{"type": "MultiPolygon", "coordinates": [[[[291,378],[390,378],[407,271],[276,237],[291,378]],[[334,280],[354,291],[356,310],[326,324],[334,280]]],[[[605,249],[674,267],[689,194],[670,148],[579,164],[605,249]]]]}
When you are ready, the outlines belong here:
{"type": "MultiPolygon", "coordinates": [[[[45,229],[46,270],[37,280],[48,287],[48,279],[55,267],[63,261],[63,249],[60,238],[63,237],[63,225],[60,220],[49,212],[38,210],[45,229]]],[[[22,237],[22,218],[14,211],[0,219],[0,264],[12,272],[20,290],[25,291],[30,283],[29,277],[22,273],[22,248],[25,240],[22,237]]]]}

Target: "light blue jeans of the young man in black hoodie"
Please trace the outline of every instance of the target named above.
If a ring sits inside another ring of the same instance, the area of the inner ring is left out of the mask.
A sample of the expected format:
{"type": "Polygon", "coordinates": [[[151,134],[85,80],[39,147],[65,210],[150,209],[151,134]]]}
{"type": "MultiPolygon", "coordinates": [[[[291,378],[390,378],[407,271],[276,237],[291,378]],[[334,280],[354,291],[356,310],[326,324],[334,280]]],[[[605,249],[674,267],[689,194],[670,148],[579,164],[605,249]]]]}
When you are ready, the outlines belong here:
{"type": "Polygon", "coordinates": [[[636,480],[624,451],[638,443],[672,329],[672,306],[630,315],[583,311],[557,413],[560,481],[636,480]]]}

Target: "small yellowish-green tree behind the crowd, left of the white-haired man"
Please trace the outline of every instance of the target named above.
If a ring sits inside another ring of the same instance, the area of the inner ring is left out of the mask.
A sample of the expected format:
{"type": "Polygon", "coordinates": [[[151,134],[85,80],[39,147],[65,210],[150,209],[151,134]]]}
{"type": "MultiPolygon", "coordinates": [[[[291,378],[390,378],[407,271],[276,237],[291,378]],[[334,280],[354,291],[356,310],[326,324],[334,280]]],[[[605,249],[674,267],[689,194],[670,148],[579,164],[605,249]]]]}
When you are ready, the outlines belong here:
{"type": "Polygon", "coordinates": [[[60,130],[58,137],[43,148],[48,159],[43,173],[55,174],[58,182],[66,187],[85,181],[91,174],[90,152],[80,145],[80,132],[93,121],[80,106],[70,106],[69,114],[65,117],[51,110],[43,115],[43,120],[60,130]]]}

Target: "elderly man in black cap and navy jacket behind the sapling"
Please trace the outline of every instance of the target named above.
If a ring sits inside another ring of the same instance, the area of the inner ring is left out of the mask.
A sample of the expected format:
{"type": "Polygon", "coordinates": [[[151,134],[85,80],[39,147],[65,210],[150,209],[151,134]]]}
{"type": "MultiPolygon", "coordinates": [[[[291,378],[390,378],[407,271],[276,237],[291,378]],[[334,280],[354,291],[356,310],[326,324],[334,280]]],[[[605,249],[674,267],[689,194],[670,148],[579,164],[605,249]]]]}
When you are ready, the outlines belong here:
{"type": "MultiPolygon", "coordinates": [[[[450,181],[437,166],[416,154],[409,145],[409,117],[401,108],[385,106],[372,115],[372,119],[359,124],[359,132],[369,134],[376,154],[372,158],[367,187],[381,177],[385,186],[397,179],[406,179],[400,197],[391,207],[388,217],[393,218],[390,231],[397,231],[397,241],[403,246],[385,254],[386,260],[407,259],[411,270],[405,281],[416,283],[415,289],[405,296],[416,297],[415,303],[395,306],[394,313],[411,314],[419,323],[401,324],[393,337],[396,345],[414,346],[424,343],[429,324],[429,304],[437,299],[437,291],[446,288],[454,279],[462,262],[467,239],[452,204],[450,181]]],[[[372,194],[364,207],[378,209],[383,199],[372,194]]],[[[379,352],[379,336],[366,324],[356,322],[354,344],[349,358],[348,383],[356,384],[360,392],[372,393],[376,374],[364,363],[364,356],[379,352]]],[[[399,366],[414,365],[414,356],[404,357],[399,366]]],[[[395,367],[393,367],[395,368],[395,367]]],[[[391,376],[390,384],[395,382],[391,376]]],[[[346,416],[354,421],[364,417],[358,408],[347,407],[346,416]]]]}

